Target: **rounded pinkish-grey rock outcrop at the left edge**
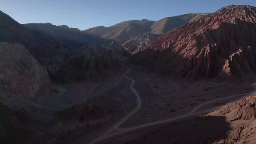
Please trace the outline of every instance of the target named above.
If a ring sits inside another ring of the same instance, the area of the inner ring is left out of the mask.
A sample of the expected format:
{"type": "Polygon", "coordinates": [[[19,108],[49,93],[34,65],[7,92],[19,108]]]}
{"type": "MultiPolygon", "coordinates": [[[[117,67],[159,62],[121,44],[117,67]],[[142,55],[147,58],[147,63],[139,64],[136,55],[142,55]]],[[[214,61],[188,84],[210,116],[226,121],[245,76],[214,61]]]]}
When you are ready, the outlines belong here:
{"type": "Polygon", "coordinates": [[[21,44],[0,43],[0,82],[5,91],[28,99],[51,91],[46,69],[21,44]]]}

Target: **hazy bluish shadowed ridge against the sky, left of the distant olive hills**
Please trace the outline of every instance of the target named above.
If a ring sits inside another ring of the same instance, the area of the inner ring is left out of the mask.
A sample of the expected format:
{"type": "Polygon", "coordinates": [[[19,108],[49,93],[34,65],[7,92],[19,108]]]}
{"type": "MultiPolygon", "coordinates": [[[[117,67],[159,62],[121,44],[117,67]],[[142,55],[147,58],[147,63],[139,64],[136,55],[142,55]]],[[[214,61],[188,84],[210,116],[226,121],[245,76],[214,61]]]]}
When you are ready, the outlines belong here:
{"type": "Polygon", "coordinates": [[[108,43],[107,40],[99,38],[89,33],[83,33],[79,29],[69,28],[66,25],[55,26],[51,23],[28,23],[23,24],[35,35],[44,34],[54,39],[62,46],[70,49],[81,47],[90,43],[108,43]]]}

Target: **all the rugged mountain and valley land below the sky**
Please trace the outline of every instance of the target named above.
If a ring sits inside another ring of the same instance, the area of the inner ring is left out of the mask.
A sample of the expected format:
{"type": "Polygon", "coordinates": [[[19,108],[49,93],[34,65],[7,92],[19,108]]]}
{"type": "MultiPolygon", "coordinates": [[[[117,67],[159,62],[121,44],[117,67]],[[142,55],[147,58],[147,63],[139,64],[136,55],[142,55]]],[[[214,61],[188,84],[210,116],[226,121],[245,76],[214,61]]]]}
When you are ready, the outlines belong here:
{"type": "Polygon", "coordinates": [[[256,7],[85,31],[0,19],[0,143],[256,141],[256,7]]]}

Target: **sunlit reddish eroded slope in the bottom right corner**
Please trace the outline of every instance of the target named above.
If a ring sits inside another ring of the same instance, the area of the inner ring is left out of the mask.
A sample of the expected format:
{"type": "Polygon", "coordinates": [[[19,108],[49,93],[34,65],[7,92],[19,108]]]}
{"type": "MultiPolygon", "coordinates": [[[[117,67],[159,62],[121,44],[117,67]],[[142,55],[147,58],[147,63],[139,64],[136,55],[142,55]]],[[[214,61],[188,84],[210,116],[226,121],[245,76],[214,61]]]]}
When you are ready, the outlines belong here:
{"type": "Polygon", "coordinates": [[[227,137],[213,144],[249,144],[256,141],[255,103],[256,96],[250,96],[210,113],[210,116],[225,117],[230,125],[230,130],[226,131],[227,137]]]}

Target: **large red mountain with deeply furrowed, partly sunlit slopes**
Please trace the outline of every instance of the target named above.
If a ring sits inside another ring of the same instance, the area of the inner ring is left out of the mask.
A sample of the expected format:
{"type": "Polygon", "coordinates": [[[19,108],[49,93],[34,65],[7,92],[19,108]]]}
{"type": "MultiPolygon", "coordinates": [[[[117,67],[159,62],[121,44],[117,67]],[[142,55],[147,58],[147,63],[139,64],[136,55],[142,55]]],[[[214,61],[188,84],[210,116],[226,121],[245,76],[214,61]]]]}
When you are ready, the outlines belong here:
{"type": "Polygon", "coordinates": [[[256,72],[256,7],[230,5],[173,29],[133,57],[164,75],[243,78],[256,72]]]}

